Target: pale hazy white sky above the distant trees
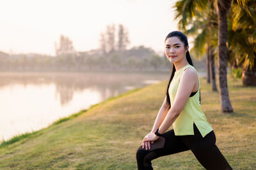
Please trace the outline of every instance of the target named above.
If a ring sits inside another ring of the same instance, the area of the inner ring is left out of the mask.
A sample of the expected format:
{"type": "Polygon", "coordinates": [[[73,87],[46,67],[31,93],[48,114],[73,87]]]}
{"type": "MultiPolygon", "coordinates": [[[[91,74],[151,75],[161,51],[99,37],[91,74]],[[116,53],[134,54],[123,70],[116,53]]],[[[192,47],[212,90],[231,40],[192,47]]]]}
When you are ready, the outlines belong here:
{"type": "Polygon", "coordinates": [[[54,55],[60,34],[77,51],[99,48],[108,24],[123,24],[131,46],[164,49],[168,32],[177,30],[171,0],[5,0],[0,1],[0,51],[54,55]]]}

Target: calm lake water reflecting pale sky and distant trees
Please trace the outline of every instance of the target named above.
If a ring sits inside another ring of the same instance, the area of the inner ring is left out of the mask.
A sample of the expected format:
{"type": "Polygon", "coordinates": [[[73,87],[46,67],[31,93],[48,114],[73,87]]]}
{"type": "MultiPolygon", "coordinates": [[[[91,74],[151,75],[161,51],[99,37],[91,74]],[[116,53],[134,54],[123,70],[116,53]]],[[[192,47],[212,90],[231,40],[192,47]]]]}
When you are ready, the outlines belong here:
{"type": "Polygon", "coordinates": [[[168,78],[169,73],[0,73],[0,141],[168,78]]]}

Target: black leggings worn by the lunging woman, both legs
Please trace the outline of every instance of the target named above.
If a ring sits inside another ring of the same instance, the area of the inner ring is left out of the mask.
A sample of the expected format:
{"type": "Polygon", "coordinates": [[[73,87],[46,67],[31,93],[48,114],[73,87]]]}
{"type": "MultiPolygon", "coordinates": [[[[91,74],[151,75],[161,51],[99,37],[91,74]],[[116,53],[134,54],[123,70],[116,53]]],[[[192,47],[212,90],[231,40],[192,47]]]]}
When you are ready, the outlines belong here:
{"type": "Polygon", "coordinates": [[[150,144],[150,150],[142,149],[142,146],[140,146],[136,153],[138,169],[153,169],[151,160],[186,150],[191,150],[205,169],[232,169],[215,145],[216,138],[213,131],[203,138],[194,124],[194,134],[175,136],[172,129],[165,132],[154,144],[150,144]]]}

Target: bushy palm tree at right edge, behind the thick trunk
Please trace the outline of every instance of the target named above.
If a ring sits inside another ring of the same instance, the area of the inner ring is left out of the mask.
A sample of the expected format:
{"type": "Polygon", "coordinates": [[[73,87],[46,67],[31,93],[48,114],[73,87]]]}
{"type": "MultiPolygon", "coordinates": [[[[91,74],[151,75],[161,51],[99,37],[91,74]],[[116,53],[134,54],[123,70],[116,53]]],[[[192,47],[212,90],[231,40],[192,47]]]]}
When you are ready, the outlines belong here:
{"type": "Polygon", "coordinates": [[[233,1],[228,26],[232,58],[243,63],[244,85],[256,85],[256,0],[233,1]]]}

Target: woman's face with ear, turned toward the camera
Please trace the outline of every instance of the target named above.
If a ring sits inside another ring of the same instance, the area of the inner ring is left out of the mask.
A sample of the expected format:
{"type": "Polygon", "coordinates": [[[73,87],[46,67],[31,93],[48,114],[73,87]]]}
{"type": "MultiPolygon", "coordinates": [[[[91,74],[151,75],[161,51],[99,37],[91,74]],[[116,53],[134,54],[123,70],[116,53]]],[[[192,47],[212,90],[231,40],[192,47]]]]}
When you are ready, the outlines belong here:
{"type": "Polygon", "coordinates": [[[179,62],[186,59],[186,52],[188,52],[189,46],[184,47],[184,43],[179,38],[173,36],[165,41],[164,52],[170,62],[179,62]]]}

